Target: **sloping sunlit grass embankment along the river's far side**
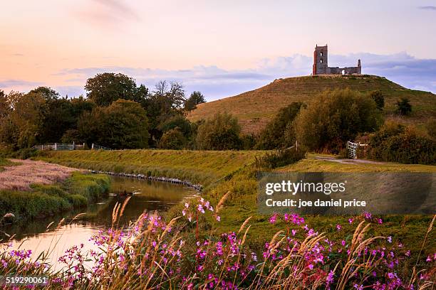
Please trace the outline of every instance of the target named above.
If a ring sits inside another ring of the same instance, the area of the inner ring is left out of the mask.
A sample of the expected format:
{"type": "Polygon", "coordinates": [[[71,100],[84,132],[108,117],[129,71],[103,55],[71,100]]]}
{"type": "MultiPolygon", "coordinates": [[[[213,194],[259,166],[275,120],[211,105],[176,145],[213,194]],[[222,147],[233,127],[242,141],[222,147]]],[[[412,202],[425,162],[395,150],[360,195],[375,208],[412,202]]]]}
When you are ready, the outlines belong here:
{"type": "Polygon", "coordinates": [[[259,151],[47,151],[37,159],[75,168],[166,176],[206,186],[254,161],[259,151]]]}

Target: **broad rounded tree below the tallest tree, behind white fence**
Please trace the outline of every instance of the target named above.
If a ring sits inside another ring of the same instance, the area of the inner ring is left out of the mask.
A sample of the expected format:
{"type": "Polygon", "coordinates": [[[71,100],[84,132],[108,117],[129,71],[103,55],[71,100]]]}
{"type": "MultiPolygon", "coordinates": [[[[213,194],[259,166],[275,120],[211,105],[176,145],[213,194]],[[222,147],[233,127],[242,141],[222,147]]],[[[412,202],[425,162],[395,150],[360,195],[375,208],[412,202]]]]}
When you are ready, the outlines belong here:
{"type": "Polygon", "coordinates": [[[109,107],[95,107],[78,122],[81,139],[112,149],[138,149],[148,144],[145,110],[137,102],[117,100],[109,107]]]}

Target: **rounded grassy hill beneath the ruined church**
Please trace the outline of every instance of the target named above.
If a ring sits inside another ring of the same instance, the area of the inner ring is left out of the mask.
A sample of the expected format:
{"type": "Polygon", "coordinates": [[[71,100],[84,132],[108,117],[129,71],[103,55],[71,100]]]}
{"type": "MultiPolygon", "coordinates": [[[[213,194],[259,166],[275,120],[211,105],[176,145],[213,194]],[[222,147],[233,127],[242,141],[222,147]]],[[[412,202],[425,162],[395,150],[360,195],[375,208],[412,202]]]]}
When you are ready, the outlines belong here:
{"type": "Polygon", "coordinates": [[[241,95],[199,104],[188,118],[197,121],[211,117],[215,112],[229,112],[239,118],[244,133],[256,133],[265,127],[281,107],[294,101],[307,102],[326,89],[346,87],[360,92],[381,90],[385,95],[385,115],[390,119],[422,124],[430,117],[436,117],[436,95],[431,92],[409,90],[375,75],[318,75],[274,80],[269,85],[241,95]],[[408,97],[412,104],[410,117],[400,118],[393,114],[395,102],[401,97],[408,97]]]}

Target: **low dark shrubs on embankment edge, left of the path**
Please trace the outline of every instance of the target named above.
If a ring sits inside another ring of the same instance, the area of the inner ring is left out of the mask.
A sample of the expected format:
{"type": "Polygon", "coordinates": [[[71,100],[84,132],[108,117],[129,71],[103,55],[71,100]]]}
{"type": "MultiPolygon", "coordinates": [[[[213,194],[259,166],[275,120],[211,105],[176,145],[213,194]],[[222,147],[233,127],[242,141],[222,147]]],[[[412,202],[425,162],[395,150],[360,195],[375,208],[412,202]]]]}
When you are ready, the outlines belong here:
{"type": "Polygon", "coordinates": [[[257,168],[277,168],[296,163],[306,157],[307,150],[299,147],[298,149],[279,149],[272,152],[266,152],[264,156],[256,157],[255,166],[257,168]]]}

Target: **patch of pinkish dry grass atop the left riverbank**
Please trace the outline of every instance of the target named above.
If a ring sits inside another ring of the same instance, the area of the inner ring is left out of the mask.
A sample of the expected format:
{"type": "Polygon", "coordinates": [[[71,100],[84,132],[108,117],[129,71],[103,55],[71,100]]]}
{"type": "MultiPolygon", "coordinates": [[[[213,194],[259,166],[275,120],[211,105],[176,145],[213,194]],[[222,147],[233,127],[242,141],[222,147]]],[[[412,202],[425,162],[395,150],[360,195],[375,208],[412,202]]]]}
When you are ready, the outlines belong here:
{"type": "Polygon", "coordinates": [[[56,183],[71,176],[73,171],[78,171],[76,168],[43,161],[18,159],[11,159],[11,161],[18,165],[3,166],[4,171],[0,172],[0,190],[29,190],[33,183],[56,183]]]}

